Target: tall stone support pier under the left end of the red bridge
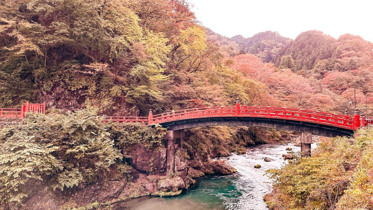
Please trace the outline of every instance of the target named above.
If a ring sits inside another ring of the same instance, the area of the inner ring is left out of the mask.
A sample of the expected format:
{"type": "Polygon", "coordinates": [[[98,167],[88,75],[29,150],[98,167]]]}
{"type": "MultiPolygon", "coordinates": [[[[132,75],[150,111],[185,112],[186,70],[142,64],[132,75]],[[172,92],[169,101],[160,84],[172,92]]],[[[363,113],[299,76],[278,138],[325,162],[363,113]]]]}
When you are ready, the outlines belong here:
{"type": "Polygon", "coordinates": [[[175,172],[175,151],[176,148],[182,148],[182,140],[184,138],[184,130],[167,130],[167,175],[175,172]]]}

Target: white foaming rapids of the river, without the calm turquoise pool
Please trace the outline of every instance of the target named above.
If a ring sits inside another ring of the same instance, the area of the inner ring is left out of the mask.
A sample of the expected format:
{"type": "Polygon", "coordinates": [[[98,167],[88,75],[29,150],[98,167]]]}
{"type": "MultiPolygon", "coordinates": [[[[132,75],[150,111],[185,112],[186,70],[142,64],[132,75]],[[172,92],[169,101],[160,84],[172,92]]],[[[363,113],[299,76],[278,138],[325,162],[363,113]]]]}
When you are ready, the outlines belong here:
{"type": "Polygon", "coordinates": [[[238,198],[239,202],[226,202],[227,209],[235,210],[267,210],[267,205],[263,196],[272,189],[267,176],[264,176],[268,169],[278,169],[287,163],[282,157],[286,154],[286,148],[291,147],[293,152],[300,152],[300,147],[289,144],[266,144],[256,145],[247,148],[244,155],[232,153],[228,159],[228,164],[237,169],[236,178],[233,180],[237,190],[242,193],[238,198]],[[270,162],[264,161],[264,158],[270,158],[270,162]],[[254,168],[260,164],[261,168],[254,168]]]}

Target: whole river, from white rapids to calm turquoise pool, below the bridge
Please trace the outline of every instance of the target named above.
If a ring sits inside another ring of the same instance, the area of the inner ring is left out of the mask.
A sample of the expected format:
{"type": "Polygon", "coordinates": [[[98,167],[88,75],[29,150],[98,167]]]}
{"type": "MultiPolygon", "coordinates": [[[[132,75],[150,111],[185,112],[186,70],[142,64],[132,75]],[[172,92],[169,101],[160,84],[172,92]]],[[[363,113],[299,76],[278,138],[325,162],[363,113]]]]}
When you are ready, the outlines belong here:
{"type": "MultiPolygon", "coordinates": [[[[312,147],[315,145],[313,144],[312,147]]],[[[237,169],[232,175],[211,175],[197,179],[194,186],[175,197],[141,197],[125,202],[128,210],[268,210],[263,196],[271,185],[266,170],[279,168],[287,161],[282,154],[286,148],[300,152],[300,147],[289,144],[266,144],[247,148],[244,155],[233,154],[228,164],[237,169]],[[265,162],[268,157],[272,161],[265,162]],[[260,169],[254,166],[260,164],[260,169]]]]}

